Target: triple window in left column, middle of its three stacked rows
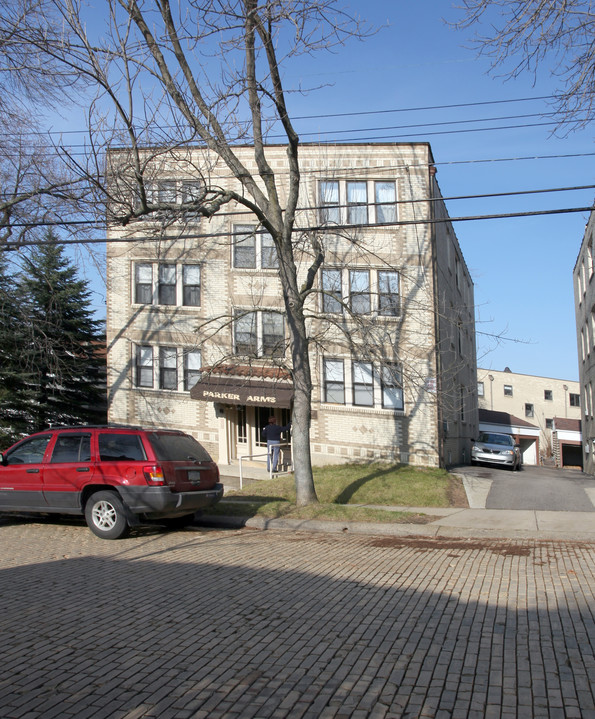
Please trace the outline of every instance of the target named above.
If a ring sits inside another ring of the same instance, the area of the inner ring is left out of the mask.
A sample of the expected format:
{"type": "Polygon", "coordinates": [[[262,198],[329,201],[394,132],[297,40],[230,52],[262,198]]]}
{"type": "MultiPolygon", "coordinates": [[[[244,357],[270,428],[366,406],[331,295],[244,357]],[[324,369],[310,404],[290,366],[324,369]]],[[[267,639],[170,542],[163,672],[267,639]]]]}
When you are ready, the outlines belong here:
{"type": "Polygon", "coordinates": [[[136,262],[134,302],[200,307],[201,266],[173,262],[136,262]]]}

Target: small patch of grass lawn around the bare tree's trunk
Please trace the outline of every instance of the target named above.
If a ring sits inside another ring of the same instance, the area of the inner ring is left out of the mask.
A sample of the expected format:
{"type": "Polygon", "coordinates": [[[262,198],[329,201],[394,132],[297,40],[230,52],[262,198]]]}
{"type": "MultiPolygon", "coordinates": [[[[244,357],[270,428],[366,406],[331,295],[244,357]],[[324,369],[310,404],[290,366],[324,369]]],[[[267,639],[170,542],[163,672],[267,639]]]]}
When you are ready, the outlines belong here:
{"type": "Polygon", "coordinates": [[[314,485],[320,503],[297,507],[293,475],[256,480],[243,490],[228,490],[208,514],[425,523],[435,517],[377,506],[468,506],[460,480],[442,469],[380,463],[329,465],[314,468],[314,485]]]}

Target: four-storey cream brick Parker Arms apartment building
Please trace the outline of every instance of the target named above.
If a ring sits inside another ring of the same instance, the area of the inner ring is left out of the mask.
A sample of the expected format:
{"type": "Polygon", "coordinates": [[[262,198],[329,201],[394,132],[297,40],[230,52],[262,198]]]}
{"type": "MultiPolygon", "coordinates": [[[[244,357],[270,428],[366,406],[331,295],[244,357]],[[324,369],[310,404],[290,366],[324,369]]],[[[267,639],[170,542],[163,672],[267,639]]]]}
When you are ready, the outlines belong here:
{"type": "MultiPolygon", "coordinates": [[[[253,149],[235,151],[256,173],[253,149]]],[[[196,168],[201,182],[241,191],[217,157],[184,153],[153,164],[153,192],[175,202],[192,192],[196,168]]],[[[282,179],[285,148],[266,154],[282,179]]],[[[300,163],[303,279],[308,233],[324,253],[307,303],[313,463],[468,462],[473,283],[430,146],[304,145],[300,163]]],[[[235,202],[210,219],[153,217],[108,238],[110,421],[184,430],[223,471],[240,457],[264,461],[262,428],[271,414],[286,425],[293,398],[272,238],[235,202]]]]}

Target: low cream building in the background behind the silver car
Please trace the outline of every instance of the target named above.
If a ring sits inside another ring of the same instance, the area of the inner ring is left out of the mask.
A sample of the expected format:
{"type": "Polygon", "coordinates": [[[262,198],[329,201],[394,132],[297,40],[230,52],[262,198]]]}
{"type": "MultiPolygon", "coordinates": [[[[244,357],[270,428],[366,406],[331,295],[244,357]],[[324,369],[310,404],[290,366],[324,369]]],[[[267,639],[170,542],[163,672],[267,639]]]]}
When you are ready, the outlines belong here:
{"type": "Polygon", "coordinates": [[[478,368],[477,394],[480,429],[489,424],[494,430],[498,413],[501,431],[516,437],[525,464],[580,464],[576,456],[580,446],[578,425],[568,433],[569,421],[578,422],[581,416],[578,382],[520,374],[508,367],[502,371],[478,368]]]}

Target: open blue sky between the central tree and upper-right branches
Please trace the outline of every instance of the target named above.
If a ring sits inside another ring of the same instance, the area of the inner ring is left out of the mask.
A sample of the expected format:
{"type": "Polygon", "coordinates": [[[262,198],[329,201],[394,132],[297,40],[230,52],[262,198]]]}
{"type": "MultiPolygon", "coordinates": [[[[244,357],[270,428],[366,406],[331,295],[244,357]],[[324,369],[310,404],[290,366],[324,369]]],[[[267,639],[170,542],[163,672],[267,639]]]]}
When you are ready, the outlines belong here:
{"type": "MultiPolygon", "coordinates": [[[[286,86],[321,89],[292,95],[290,112],[382,114],[299,120],[304,141],[428,141],[446,198],[594,184],[592,156],[520,159],[595,151],[592,126],[562,137],[552,134],[551,125],[536,125],[546,122],[542,117],[517,117],[551,110],[545,100],[525,100],[556,91],[547,67],[536,81],[488,76],[488,61],[465,47],[469,33],[444,23],[443,18],[458,17],[448,2],[354,0],[351,7],[382,29],[333,54],[295,58],[285,70],[286,86]],[[402,111],[502,100],[518,102],[402,111]],[[472,122],[430,126],[463,120],[472,122]],[[520,124],[533,126],[510,127],[520,124]],[[396,129],[403,125],[421,127],[396,129]],[[509,127],[472,131],[493,126],[509,127]],[[517,159],[499,161],[507,158],[517,159]]],[[[456,217],[587,207],[593,197],[594,191],[586,189],[453,200],[447,206],[456,217]]],[[[479,366],[578,379],[572,270],[586,220],[587,213],[572,213],[455,224],[475,283],[479,366]]]]}

